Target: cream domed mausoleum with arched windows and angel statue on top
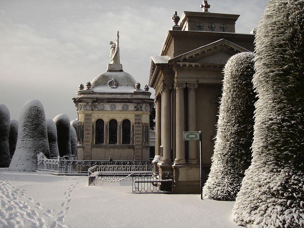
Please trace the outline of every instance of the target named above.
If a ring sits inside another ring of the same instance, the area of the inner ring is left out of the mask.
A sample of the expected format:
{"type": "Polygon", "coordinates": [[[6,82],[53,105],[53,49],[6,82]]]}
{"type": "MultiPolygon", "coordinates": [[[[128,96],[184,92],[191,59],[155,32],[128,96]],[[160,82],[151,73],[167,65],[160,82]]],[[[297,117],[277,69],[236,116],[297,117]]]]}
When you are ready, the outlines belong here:
{"type": "Polygon", "coordinates": [[[110,42],[107,71],[81,84],[72,98],[78,113],[78,159],[148,161],[149,116],[154,100],[149,87],[123,71],[119,56],[119,33],[110,42]]]}

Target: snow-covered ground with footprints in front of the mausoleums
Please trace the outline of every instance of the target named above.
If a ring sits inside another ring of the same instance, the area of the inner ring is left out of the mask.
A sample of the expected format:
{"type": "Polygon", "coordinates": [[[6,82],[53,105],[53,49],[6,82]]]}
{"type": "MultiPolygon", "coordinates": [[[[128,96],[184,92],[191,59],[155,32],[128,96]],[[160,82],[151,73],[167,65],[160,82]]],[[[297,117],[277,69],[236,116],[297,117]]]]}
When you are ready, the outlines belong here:
{"type": "Polygon", "coordinates": [[[240,227],[234,202],[131,193],[130,180],[88,186],[87,178],[0,168],[0,227],[240,227]]]}

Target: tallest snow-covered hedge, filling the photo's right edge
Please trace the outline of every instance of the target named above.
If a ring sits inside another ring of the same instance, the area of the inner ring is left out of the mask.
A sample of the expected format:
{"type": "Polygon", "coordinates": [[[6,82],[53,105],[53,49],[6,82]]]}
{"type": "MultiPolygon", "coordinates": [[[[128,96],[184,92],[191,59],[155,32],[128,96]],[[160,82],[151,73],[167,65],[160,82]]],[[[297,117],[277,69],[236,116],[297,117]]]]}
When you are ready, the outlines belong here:
{"type": "Polygon", "coordinates": [[[304,227],[304,1],[270,0],[255,43],[253,158],[232,215],[247,227],[304,227]]]}

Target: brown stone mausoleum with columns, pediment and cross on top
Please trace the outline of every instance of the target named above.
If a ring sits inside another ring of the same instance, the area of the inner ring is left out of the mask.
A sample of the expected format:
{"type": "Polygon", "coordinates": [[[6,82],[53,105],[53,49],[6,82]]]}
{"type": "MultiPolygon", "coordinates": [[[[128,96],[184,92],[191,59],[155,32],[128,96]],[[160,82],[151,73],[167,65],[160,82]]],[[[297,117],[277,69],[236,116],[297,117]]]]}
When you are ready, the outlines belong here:
{"type": "Polygon", "coordinates": [[[254,34],[235,33],[240,15],[177,12],[159,56],[151,57],[149,86],[155,89],[155,171],[174,172],[175,193],[199,193],[199,141],[184,131],[202,131],[203,181],[207,180],[222,94],[223,67],[234,54],[254,51],[254,34]],[[180,22],[179,22],[180,20],[180,22]]]}

